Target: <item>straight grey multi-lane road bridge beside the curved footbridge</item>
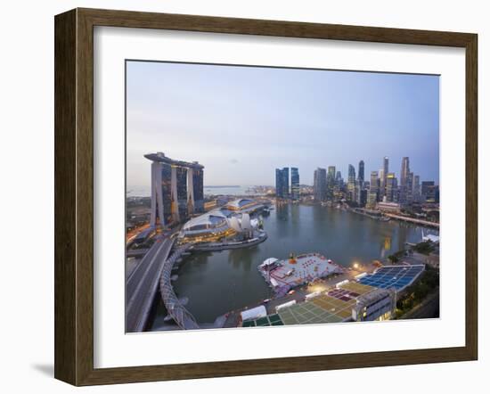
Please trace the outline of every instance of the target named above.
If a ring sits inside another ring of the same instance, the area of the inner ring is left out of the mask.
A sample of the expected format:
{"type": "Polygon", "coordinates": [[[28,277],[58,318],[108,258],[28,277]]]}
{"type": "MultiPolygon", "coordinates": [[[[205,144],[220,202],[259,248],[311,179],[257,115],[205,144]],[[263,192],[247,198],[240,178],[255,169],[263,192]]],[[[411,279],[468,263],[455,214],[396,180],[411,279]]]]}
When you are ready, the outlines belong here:
{"type": "Polygon", "coordinates": [[[126,331],[142,332],[150,315],[151,303],[159,286],[163,264],[173,240],[159,238],[127,278],[126,331]]]}

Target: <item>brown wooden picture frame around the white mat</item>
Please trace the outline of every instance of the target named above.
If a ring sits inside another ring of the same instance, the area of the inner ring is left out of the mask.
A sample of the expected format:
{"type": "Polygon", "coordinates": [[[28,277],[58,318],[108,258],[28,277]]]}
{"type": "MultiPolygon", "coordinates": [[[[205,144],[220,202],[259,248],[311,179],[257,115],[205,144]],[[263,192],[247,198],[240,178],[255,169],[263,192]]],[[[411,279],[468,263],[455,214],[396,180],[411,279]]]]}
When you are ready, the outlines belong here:
{"type": "Polygon", "coordinates": [[[75,9],[55,17],[55,378],[74,385],[476,360],[478,37],[475,34],[75,9]],[[466,343],[458,348],[94,368],[94,26],[440,45],[466,51],[466,343]]]}

